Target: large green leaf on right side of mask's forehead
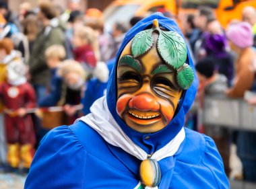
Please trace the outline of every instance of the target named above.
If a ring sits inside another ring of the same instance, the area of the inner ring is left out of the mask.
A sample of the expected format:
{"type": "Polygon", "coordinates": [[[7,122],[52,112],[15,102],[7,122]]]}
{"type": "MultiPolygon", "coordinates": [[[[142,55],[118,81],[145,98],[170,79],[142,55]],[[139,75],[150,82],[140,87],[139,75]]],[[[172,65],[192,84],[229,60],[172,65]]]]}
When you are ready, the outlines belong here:
{"type": "Polygon", "coordinates": [[[162,59],[174,69],[179,69],[185,63],[187,47],[177,32],[160,30],[156,46],[162,59]]]}

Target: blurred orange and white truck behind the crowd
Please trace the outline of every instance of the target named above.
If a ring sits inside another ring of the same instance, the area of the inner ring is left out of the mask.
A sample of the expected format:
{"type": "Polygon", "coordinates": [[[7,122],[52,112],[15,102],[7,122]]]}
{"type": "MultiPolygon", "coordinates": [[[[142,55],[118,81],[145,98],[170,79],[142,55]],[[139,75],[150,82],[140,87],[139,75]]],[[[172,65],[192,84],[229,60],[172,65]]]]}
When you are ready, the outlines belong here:
{"type": "Polygon", "coordinates": [[[117,0],[110,3],[104,10],[106,30],[110,31],[115,22],[129,26],[129,20],[135,16],[145,16],[164,9],[170,11],[179,23],[188,13],[195,12],[200,5],[215,9],[220,24],[226,28],[231,20],[241,20],[243,7],[256,8],[256,0],[117,0]]]}

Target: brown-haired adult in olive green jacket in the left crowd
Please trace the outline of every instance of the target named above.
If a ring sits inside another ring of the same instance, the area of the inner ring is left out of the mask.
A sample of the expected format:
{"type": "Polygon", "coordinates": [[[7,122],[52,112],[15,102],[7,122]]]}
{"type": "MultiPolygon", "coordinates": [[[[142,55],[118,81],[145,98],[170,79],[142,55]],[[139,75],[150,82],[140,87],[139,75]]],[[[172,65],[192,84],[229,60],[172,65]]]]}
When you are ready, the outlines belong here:
{"type": "Polygon", "coordinates": [[[50,70],[46,65],[44,52],[53,44],[64,45],[64,34],[58,24],[51,23],[51,20],[57,16],[55,7],[49,2],[42,2],[39,7],[38,19],[42,22],[43,28],[34,40],[28,66],[31,75],[30,82],[34,85],[38,100],[41,100],[50,81],[50,70]]]}

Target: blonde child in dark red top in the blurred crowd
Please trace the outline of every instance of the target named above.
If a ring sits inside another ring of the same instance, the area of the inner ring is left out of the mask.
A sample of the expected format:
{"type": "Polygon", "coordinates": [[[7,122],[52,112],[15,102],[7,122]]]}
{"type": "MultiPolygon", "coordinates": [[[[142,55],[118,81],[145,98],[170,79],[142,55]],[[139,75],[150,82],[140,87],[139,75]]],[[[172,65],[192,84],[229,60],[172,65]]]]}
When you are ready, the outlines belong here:
{"type": "Polygon", "coordinates": [[[94,32],[91,28],[83,26],[82,28],[77,28],[73,36],[73,45],[75,47],[73,50],[74,59],[81,63],[89,73],[93,72],[97,63],[93,48],[93,43],[96,40],[93,40],[93,34],[94,32]]]}

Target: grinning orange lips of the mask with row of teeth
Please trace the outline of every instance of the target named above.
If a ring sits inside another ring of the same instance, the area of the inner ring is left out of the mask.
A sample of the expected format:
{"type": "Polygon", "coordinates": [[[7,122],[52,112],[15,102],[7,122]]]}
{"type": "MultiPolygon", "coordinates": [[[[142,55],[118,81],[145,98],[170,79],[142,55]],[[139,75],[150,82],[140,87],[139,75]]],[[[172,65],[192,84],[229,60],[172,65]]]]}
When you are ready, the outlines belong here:
{"type": "Polygon", "coordinates": [[[153,124],[161,119],[161,115],[159,112],[141,112],[138,110],[129,110],[127,111],[127,116],[130,120],[135,122],[136,124],[153,124]]]}

